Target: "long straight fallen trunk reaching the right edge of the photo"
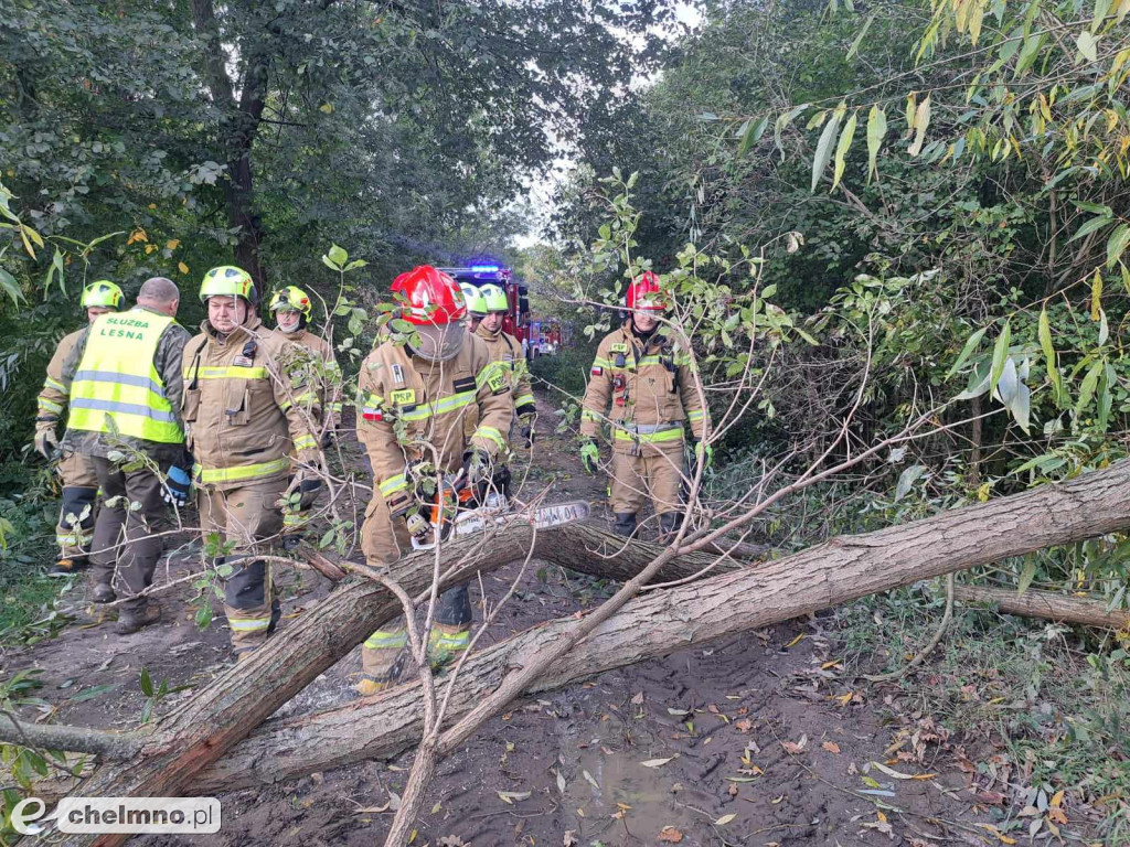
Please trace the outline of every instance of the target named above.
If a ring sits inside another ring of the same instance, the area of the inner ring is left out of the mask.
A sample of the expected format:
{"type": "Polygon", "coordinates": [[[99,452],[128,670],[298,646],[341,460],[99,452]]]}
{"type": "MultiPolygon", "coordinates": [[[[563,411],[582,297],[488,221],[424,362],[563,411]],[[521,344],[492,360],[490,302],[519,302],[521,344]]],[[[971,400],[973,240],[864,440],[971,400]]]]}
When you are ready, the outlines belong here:
{"type": "MultiPolygon", "coordinates": [[[[1128,529],[1128,483],[1130,462],[1122,462],[1059,486],[834,539],[757,568],[643,595],[599,627],[568,662],[557,663],[536,690],[919,579],[1128,529]]],[[[476,706],[511,669],[531,662],[539,647],[571,623],[555,621],[469,660],[453,697],[453,716],[476,706]]],[[[205,774],[197,788],[216,793],[395,753],[419,736],[419,692],[410,686],[270,722],[205,774]]]]}

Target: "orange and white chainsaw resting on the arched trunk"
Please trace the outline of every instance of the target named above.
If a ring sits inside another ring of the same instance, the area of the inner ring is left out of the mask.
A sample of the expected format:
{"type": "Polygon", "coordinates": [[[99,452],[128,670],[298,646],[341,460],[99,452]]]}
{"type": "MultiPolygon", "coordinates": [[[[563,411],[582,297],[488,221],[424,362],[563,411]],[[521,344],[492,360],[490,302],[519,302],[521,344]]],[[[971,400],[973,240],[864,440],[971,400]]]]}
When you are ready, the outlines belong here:
{"type": "Polygon", "coordinates": [[[460,478],[461,474],[447,474],[441,481],[440,490],[428,509],[432,540],[414,535],[414,550],[433,550],[437,540],[446,541],[452,536],[470,535],[484,532],[492,525],[515,521],[528,522],[537,530],[548,530],[589,517],[589,504],[585,500],[540,506],[527,517],[522,512],[514,510],[507,499],[497,491],[489,490],[484,496],[483,491],[476,491],[470,486],[459,487],[460,478]]]}

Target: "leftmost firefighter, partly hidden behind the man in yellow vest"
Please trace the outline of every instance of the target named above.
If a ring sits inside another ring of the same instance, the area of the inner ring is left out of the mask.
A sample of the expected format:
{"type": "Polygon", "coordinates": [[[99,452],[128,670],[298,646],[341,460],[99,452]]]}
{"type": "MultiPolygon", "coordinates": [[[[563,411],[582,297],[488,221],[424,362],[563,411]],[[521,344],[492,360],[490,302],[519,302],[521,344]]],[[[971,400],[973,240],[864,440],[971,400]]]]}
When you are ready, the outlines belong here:
{"type": "MultiPolygon", "coordinates": [[[[92,282],[82,289],[82,307],[86,309],[87,323],[94,323],[94,318],[107,312],[118,312],[122,307],[123,299],[122,289],[108,279],[92,282]]],[[[69,399],[68,388],[60,382],[63,363],[81,335],[82,330],[75,330],[63,335],[47,364],[47,376],[40,391],[38,414],[35,418],[35,449],[46,460],[50,460],[52,451],[59,447],[55,426],[63,418],[63,410],[69,399]]],[[[87,553],[90,549],[97,509],[98,475],[94,472],[94,462],[81,453],[62,455],[58,471],[63,483],[63,501],[55,526],[59,558],[47,570],[47,576],[64,577],[87,567],[87,553]]]]}

